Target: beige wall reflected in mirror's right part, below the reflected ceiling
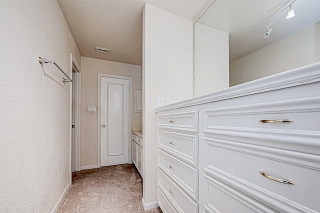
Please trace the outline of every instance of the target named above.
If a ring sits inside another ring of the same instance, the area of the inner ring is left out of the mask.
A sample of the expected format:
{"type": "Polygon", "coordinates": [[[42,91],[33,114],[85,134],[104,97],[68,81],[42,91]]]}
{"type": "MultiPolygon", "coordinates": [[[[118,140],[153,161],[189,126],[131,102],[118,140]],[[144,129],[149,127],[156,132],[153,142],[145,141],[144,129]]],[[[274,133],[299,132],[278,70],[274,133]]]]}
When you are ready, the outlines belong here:
{"type": "Polygon", "coordinates": [[[230,86],[320,61],[320,22],[230,63],[230,86]]]}

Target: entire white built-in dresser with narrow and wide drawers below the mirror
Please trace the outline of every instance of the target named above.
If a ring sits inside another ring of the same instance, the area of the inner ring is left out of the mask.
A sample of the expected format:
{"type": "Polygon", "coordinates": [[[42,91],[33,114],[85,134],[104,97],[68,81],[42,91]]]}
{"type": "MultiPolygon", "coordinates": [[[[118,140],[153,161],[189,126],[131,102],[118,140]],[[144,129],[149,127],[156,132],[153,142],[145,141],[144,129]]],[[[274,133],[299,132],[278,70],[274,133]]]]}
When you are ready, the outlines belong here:
{"type": "Polygon", "coordinates": [[[320,63],[157,108],[163,212],[320,212],[320,63]]]}

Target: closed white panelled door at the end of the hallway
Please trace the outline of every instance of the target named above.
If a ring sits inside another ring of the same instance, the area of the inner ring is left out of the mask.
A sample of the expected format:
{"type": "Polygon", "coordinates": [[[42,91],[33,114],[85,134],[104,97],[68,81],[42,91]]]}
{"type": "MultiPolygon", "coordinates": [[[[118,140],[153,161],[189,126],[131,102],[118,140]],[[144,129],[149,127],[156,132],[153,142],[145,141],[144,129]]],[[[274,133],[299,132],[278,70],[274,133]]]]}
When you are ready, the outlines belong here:
{"type": "Polygon", "coordinates": [[[101,166],[129,162],[129,80],[101,77],[101,166]]]}

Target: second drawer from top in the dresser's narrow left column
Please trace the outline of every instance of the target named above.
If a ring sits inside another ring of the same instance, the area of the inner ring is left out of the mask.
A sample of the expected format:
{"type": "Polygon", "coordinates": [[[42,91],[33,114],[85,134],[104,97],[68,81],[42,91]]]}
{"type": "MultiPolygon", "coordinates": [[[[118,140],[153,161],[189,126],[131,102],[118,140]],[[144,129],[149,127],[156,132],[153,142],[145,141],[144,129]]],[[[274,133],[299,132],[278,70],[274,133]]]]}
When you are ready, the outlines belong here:
{"type": "Polygon", "coordinates": [[[158,131],[159,148],[194,166],[198,165],[198,136],[158,131]]]}

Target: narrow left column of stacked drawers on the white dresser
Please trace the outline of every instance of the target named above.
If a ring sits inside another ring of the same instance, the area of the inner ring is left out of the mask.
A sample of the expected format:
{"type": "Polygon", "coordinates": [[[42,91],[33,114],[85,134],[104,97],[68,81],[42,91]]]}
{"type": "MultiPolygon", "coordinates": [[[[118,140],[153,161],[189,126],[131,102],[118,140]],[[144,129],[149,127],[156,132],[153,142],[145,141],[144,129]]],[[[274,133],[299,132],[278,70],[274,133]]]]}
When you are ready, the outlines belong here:
{"type": "Polygon", "coordinates": [[[164,212],[198,212],[199,109],[158,112],[158,204],[164,212]]]}

